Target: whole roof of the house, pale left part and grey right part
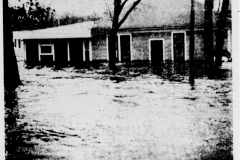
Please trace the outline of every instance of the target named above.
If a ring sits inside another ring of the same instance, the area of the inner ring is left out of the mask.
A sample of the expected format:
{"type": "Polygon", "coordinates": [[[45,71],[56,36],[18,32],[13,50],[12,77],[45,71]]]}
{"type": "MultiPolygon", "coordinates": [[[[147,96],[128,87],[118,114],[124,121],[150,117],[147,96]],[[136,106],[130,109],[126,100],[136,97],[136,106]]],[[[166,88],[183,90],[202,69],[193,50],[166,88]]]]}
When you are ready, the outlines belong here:
{"type": "MultiPolygon", "coordinates": [[[[123,11],[124,12],[124,11],[123,11]]],[[[154,30],[190,28],[191,0],[142,0],[120,30],[154,30]]],[[[215,21],[215,19],[214,19],[215,21]]],[[[104,18],[97,22],[81,22],[33,31],[14,32],[15,39],[90,38],[108,32],[112,22],[104,18]],[[17,38],[16,38],[17,37],[17,38]]],[[[204,5],[195,3],[195,27],[204,26],[204,5]]]]}

